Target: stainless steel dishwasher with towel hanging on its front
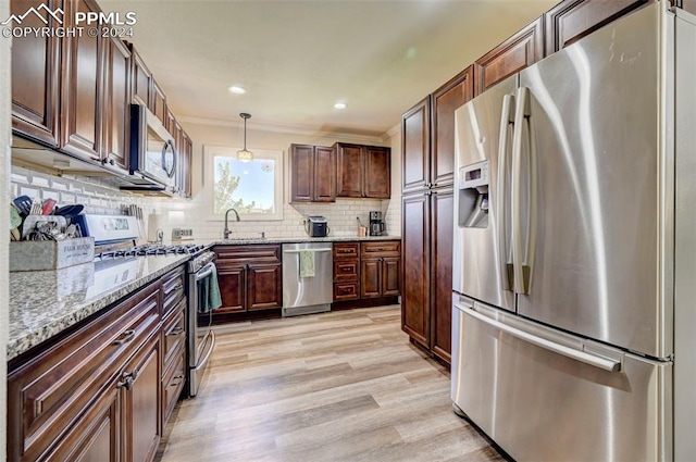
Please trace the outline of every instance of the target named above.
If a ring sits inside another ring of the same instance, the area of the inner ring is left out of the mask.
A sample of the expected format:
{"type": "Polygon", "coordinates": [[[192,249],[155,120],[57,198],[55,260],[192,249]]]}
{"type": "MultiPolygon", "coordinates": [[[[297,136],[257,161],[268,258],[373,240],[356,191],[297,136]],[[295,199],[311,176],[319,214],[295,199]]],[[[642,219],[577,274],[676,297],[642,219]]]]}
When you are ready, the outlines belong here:
{"type": "Polygon", "coordinates": [[[331,242],[283,245],[283,316],[331,310],[334,299],[331,242]]]}

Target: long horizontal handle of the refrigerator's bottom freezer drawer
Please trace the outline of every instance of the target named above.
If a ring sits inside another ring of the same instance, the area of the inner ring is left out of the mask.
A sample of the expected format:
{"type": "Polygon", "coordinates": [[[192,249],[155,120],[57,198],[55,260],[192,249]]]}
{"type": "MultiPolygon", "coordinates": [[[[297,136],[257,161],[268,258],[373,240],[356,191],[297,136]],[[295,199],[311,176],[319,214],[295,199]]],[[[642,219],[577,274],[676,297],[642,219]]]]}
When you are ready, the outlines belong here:
{"type": "Polygon", "coordinates": [[[575,350],[564,345],[560,345],[555,341],[547,340],[546,338],[538,337],[536,335],[530,334],[517,327],[512,327],[499,321],[493,320],[484,314],[478,313],[477,311],[474,311],[472,308],[461,303],[455,302],[455,307],[458,310],[462,311],[464,314],[468,314],[471,317],[474,317],[477,321],[481,321],[482,323],[489,325],[490,327],[495,327],[498,330],[501,330],[508,335],[511,335],[512,337],[526,341],[527,344],[536,345],[537,347],[544,348],[549,351],[554,351],[555,353],[561,354],[566,358],[570,358],[570,359],[583,362],[585,364],[599,367],[604,371],[621,372],[621,361],[614,361],[608,358],[599,357],[597,354],[588,353],[586,351],[575,350]]]}

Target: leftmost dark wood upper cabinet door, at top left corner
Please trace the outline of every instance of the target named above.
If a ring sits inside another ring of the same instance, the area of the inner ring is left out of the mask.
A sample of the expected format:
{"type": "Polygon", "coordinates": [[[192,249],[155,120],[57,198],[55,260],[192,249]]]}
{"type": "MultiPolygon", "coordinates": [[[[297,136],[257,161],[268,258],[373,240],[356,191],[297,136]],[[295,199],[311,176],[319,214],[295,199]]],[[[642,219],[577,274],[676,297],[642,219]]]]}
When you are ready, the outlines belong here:
{"type": "MultiPolygon", "coordinates": [[[[39,5],[55,10],[62,2],[13,0],[10,11],[18,16],[39,5]]],[[[35,14],[22,22],[22,27],[54,28],[57,25],[53,17],[49,17],[47,25],[35,14]]],[[[51,147],[59,145],[60,46],[61,39],[50,35],[28,34],[12,40],[12,128],[51,147]]]]}

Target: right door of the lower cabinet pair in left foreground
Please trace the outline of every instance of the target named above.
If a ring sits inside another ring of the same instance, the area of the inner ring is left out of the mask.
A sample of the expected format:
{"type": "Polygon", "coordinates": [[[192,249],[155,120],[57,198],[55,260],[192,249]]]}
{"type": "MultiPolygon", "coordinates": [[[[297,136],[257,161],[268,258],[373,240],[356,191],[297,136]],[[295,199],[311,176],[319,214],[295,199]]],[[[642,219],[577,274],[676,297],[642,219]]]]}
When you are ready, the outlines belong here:
{"type": "Polygon", "coordinates": [[[160,397],[160,336],[154,335],[126,364],[123,385],[124,455],[133,462],[151,461],[161,432],[162,400],[160,397]]]}

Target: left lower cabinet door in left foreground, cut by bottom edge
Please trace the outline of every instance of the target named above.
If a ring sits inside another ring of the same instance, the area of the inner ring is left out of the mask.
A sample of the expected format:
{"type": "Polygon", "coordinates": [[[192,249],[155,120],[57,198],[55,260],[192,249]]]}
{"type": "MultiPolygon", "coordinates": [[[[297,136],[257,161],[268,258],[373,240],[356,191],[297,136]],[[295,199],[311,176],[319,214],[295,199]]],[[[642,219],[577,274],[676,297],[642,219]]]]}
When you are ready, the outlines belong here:
{"type": "Polygon", "coordinates": [[[121,391],[113,380],[42,460],[116,462],[121,458],[121,391]]]}

